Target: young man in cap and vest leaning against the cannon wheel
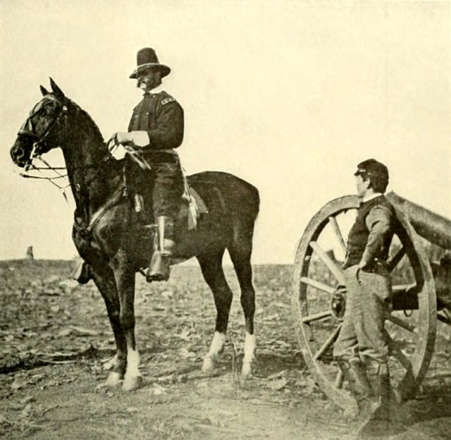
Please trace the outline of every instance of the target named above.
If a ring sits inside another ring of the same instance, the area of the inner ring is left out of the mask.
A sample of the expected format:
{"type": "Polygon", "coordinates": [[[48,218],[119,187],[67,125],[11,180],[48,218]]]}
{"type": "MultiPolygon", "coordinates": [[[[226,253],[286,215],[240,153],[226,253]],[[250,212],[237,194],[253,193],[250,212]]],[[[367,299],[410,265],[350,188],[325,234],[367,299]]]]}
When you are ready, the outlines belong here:
{"type": "Polygon", "coordinates": [[[347,304],[333,355],[359,405],[363,434],[388,422],[390,376],[384,312],[392,298],[386,261],[395,210],[383,195],[388,185],[384,164],[368,159],[357,166],[354,176],[362,202],[347,240],[343,264],[347,304]],[[375,391],[366,372],[366,365],[371,364],[377,367],[375,391]]]}

